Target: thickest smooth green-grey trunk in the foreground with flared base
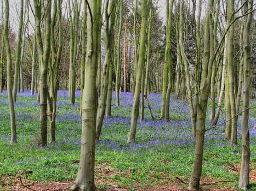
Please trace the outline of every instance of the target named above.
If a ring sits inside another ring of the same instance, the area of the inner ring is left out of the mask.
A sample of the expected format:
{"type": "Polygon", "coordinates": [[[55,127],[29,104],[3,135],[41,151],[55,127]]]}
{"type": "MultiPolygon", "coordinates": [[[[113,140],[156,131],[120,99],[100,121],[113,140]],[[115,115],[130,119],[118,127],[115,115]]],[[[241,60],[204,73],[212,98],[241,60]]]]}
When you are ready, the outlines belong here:
{"type": "Polygon", "coordinates": [[[101,28],[101,1],[88,1],[87,59],[83,88],[82,140],[78,174],[71,190],[94,191],[95,129],[96,129],[96,68],[101,28]]]}

